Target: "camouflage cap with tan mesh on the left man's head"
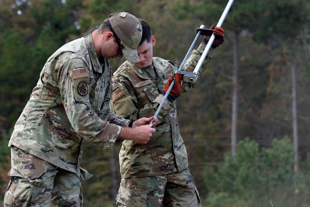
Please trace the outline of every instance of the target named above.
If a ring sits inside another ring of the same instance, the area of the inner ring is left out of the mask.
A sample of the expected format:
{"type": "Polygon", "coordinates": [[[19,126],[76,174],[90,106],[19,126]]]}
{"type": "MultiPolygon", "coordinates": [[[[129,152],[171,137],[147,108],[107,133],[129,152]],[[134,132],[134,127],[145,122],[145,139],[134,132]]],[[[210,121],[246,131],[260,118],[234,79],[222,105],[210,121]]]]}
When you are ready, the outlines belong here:
{"type": "Polygon", "coordinates": [[[110,25],[121,40],[123,55],[129,62],[139,62],[137,47],[142,38],[139,20],[127,12],[118,12],[109,17],[110,25]]]}

